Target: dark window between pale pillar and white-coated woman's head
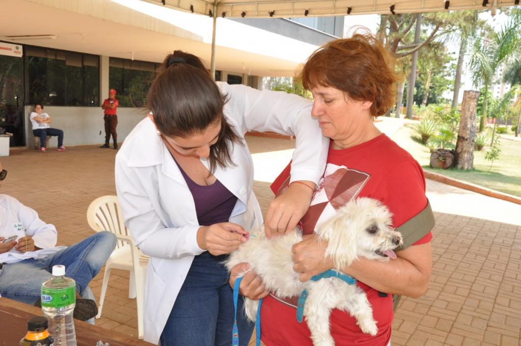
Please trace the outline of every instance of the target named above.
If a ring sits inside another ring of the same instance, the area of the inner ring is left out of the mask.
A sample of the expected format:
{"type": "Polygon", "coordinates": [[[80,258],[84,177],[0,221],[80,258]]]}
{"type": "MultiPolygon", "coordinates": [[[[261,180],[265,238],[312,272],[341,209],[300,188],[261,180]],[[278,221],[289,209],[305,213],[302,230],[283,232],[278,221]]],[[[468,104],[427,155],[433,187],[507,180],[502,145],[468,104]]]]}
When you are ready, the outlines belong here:
{"type": "Polygon", "coordinates": [[[108,83],[110,88],[116,89],[119,105],[122,107],[146,105],[146,94],[160,66],[147,61],[110,58],[108,83]]]}

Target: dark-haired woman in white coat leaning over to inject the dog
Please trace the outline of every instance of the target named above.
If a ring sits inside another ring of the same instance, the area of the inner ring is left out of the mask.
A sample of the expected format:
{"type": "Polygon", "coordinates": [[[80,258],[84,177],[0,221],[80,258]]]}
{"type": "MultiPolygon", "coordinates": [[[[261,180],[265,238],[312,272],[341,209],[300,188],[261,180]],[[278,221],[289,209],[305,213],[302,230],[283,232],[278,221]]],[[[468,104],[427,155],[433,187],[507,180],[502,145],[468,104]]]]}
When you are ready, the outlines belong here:
{"type": "MultiPolygon", "coordinates": [[[[292,183],[266,215],[269,236],[295,227],[307,211],[324,172],[327,141],[311,117],[311,101],[216,83],[198,57],[181,51],[166,57],[147,102],[151,114],[116,156],[125,224],[151,256],[144,338],[162,346],[229,346],[232,289],[221,262],[246,241],[247,230],[263,223],[244,134],[296,137],[292,183]]],[[[246,274],[241,289],[254,277],[246,274]]],[[[244,316],[242,298],[238,328],[240,345],[247,345],[253,325],[244,316]]]]}

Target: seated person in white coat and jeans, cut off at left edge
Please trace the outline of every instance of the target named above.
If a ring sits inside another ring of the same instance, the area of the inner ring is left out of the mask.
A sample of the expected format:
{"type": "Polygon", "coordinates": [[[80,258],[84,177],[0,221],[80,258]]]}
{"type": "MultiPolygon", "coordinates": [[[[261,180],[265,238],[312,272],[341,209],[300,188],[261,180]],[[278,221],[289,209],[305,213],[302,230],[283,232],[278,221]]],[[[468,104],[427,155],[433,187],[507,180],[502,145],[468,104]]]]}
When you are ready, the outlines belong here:
{"type": "MultiPolygon", "coordinates": [[[[0,186],[7,171],[0,162],[0,186]]],[[[71,246],[56,246],[57,231],[31,208],[0,194],[0,295],[39,305],[42,282],[51,279],[54,265],[65,266],[65,276],[76,280],[74,317],[90,320],[97,314],[89,282],[116,246],[113,233],[94,234],[71,246]]],[[[41,305],[40,305],[41,306],[41,305]]]]}

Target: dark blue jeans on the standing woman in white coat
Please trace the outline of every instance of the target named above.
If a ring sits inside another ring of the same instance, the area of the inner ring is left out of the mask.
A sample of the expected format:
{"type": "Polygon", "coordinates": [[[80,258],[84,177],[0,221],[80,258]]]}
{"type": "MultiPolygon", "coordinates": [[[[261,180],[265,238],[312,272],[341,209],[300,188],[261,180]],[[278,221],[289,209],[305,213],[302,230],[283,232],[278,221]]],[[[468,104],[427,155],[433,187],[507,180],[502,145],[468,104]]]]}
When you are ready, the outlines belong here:
{"type": "MultiPolygon", "coordinates": [[[[195,256],[159,338],[161,346],[231,345],[233,290],[222,265],[225,259],[207,251],[195,256]]],[[[244,315],[242,297],[238,305],[239,344],[246,346],[254,324],[244,315]]]]}

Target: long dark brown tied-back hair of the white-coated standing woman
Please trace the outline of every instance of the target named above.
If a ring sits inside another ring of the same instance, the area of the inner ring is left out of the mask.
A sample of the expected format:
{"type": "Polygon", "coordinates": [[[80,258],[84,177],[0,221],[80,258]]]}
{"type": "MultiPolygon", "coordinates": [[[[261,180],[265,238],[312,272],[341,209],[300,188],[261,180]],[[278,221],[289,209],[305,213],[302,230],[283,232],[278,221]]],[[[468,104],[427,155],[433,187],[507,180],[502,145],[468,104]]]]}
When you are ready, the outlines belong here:
{"type": "Polygon", "coordinates": [[[235,165],[233,143],[242,141],[222,113],[228,95],[221,94],[199,57],[182,51],[167,55],[146,98],[157,129],[167,137],[202,133],[220,122],[219,138],[210,147],[210,171],[235,165]]]}

